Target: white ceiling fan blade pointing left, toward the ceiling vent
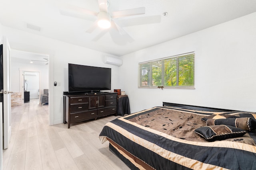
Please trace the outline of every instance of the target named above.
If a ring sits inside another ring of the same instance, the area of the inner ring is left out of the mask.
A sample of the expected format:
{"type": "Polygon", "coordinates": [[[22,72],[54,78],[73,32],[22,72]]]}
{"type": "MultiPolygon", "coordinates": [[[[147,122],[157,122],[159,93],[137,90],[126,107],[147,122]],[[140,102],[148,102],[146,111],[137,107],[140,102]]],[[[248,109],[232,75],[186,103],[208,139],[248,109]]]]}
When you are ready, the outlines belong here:
{"type": "Polygon", "coordinates": [[[64,16],[71,16],[74,18],[81,18],[85,20],[95,20],[95,17],[89,16],[97,16],[98,13],[90,10],[86,10],[84,8],[80,8],[78,6],[73,6],[70,4],[61,4],[59,6],[60,14],[64,16]]]}

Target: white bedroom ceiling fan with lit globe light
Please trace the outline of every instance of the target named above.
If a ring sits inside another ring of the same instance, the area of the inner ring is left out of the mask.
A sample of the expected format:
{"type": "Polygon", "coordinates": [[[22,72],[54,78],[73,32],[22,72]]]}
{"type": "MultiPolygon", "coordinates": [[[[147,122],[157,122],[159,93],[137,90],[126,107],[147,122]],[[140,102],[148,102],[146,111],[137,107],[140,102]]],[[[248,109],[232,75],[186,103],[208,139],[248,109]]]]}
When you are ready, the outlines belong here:
{"type": "MultiPolygon", "coordinates": [[[[60,6],[60,14],[86,20],[86,15],[96,16],[97,20],[94,21],[94,23],[89,27],[89,29],[86,30],[86,32],[92,33],[97,27],[101,27],[105,30],[102,31],[102,33],[100,33],[97,37],[95,37],[93,41],[97,41],[107,31],[110,31],[110,29],[115,29],[116,31],[118,31],[118,33],[127,41],[134,41],[132,37],[130,37],[130,35],[128,35],[128,33],[124,31],[124,29],[122,29],[122,27],[120,27],[113,19],[145,14],[145,7],[109,12],[108,3],[109,2],[107,0],[98,0],[98,5],[100,8],[99,12],[80,8],[78,6],[72,6],[70,4],[62,4],[62,6],[60,6]]],[[[112,32],[110,31],[110,34],[111,33],[112,32]]],[[[112,36],[112,38],[114,38],[114,36],[112,36]]]]}

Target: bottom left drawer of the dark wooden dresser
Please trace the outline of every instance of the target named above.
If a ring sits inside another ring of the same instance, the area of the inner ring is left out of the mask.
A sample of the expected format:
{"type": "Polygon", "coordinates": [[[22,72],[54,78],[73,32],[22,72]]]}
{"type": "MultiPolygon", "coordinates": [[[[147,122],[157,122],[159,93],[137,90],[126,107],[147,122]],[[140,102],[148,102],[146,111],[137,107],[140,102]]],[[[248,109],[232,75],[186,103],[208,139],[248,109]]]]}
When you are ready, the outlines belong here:
{"type": "Polygon", "coordinates": [[[97,117],[97,110],[90,110],[90,111],[82,111],[78,113],[70,114],[70,121],[71,122],[78,122],[83,120],[94,119],[97,117]]]}

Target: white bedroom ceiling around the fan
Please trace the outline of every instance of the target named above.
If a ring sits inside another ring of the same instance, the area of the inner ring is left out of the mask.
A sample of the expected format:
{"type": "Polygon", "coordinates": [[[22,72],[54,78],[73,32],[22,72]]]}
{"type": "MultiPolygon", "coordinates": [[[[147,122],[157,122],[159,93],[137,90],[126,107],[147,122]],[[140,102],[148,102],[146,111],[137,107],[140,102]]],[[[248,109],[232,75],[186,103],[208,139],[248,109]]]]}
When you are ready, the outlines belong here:
{"type": "MultiPolygon", "coordinates": [[[[118,34],[112,39],[109,32],[98,41],[92,41],[102,33],[100,29],[93,33],[85,32],[94,23],[95,17],[86,16],[87,20],[84,20],[64,16],[59,12],[59,5],[64,3],[99,12],[97,0],[0,0],[0,23],[7,27],[122,56],[256,12],[256,0],[108,1],[110,12],[146,8],[146,14],[115,19],[116,23],[134,39],[133,42],[126,42],[118,34]],[[164,12],[168,12],[168,16],[163,16],[164,12]],[[145,21],[158,22],[146,24],[145,21]],[[27,23],[40,27],[40,31],[27,28],[27,23]]],[[[12,46],[12,42],[10,45],[12,46]]]]}

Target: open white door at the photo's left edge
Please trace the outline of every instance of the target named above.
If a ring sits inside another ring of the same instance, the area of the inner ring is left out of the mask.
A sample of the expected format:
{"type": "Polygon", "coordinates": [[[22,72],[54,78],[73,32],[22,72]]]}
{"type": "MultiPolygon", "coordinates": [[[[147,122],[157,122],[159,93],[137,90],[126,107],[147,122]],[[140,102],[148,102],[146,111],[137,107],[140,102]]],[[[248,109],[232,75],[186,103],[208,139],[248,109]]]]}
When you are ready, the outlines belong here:
{"type": "Polygon", "coordinates": [[[8,39],[3,37],[3,82],[4,82],[4,125],[3,149],[7,149],[11,137],[11,75],[10,75],[10,45],[8,39]]]}

